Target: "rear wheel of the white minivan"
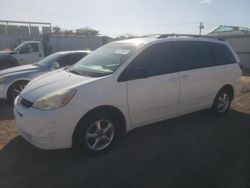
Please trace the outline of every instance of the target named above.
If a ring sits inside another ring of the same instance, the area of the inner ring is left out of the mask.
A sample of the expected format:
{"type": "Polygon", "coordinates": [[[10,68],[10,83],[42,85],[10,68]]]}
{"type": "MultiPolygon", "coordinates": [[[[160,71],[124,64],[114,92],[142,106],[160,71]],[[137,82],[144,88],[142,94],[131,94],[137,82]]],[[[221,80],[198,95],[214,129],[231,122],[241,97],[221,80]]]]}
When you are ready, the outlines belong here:
{"type": "Polygon", "coordinates": [[[229,90],[222,89],[215,97],[212,112],[215,116],[225,115],[230,109],[232,95],[229,90]]]}

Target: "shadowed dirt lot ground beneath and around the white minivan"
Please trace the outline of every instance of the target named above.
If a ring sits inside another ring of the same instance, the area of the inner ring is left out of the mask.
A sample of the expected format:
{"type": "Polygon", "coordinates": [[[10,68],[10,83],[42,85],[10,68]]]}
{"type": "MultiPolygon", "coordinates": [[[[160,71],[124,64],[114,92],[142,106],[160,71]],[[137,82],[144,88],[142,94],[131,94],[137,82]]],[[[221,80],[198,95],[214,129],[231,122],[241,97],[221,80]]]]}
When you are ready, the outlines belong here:
{"type": "Polygon", "coordinates": [[[250,77],[225,117],[208,111],[131,131],[109,153],[43,151],[0,102],[0,187],[250,187],[250,77]]]}

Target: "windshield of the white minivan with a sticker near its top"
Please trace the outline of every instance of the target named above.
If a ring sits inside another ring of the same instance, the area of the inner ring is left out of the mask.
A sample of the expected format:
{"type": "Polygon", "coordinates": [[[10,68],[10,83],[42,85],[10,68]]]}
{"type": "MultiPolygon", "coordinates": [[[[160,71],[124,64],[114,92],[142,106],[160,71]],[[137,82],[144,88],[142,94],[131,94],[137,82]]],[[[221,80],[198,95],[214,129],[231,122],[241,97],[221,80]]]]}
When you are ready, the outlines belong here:
{"type": "Polygon", "coordinates": [[[130,43],[107,44],[83,58],[70,71],[91,77],[112,74],[137,47],[130,43]]]}

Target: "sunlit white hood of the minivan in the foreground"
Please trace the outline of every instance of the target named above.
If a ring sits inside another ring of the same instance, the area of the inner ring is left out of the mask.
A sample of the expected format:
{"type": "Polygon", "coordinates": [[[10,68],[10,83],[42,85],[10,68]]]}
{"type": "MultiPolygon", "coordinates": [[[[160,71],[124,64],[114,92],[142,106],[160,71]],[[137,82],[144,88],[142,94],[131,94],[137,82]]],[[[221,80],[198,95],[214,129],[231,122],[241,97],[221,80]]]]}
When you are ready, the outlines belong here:
{"type": "Polygon", "coordinates": [[[84,77],[65,70],[56,70],[35,78],[20,94],[27,100],[36,101],[62,89],[76,88],[98,78],[84,77]]]}

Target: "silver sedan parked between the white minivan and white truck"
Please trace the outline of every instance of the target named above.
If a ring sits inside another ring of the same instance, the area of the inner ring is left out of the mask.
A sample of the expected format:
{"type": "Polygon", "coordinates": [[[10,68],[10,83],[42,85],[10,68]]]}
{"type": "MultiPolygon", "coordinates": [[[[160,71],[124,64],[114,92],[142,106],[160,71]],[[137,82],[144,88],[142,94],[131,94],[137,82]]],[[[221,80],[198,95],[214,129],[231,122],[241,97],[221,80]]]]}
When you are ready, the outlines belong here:
{"type": "Polygon", "coordinates": [[[63,51],[47,56],[32,65],[23,65],[0,71],[0,98],[13,101],[33,78],[48,71],[71,66],[90,51],[63,51]]]}

